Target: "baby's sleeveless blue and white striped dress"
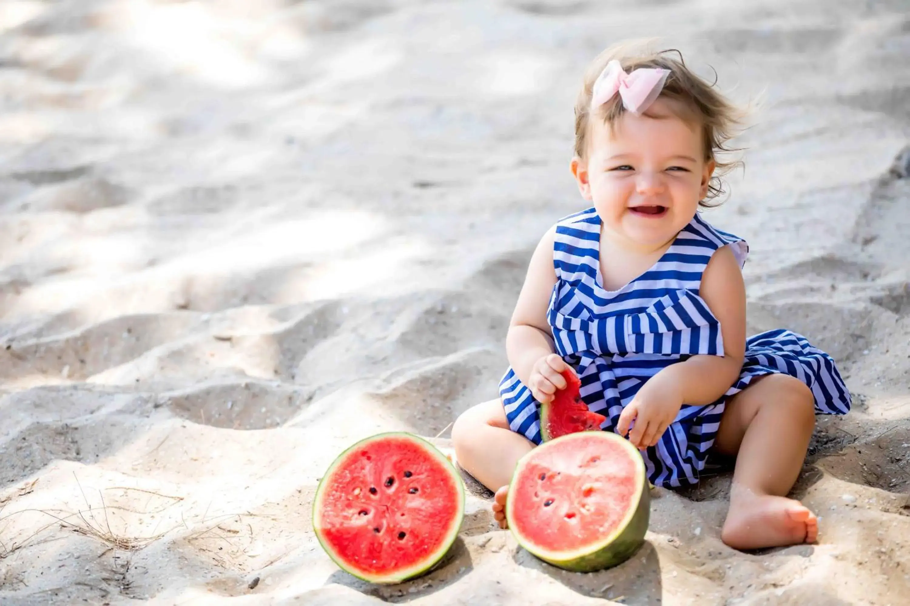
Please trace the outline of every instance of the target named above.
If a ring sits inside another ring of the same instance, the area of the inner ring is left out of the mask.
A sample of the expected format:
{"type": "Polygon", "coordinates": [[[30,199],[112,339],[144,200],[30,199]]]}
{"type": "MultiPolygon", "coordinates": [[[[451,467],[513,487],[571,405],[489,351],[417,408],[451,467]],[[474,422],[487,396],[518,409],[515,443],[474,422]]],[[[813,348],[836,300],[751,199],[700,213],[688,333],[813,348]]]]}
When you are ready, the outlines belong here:
{"type": "MultiPolygon", "coordinates": [[[[692,355],[723,355],[720,323],[699,296],[711,255],[730,246],[742,266],[748,246],[695,215],[651,269],[617,291],[602,288],[601,218],[591,208],[556,224],[556,284],[547,321],[556,350],[581,378],[581,399],[614,432],[623,406],[665,366],[692,355]]],[[[683,405],[656,446],[642,451],[648,477],[658,486],[698,482],[720,425],[724,402],[757,376],[786,373],[814,393],[815,412],[844,414],[850,392],[831,357],[803,336],[785,330],[746,341],[743,372],[716,402],[683,405]]],[[[500,382],[514,432],[541,442],[539,402],[510,368],[500,382]]]]}

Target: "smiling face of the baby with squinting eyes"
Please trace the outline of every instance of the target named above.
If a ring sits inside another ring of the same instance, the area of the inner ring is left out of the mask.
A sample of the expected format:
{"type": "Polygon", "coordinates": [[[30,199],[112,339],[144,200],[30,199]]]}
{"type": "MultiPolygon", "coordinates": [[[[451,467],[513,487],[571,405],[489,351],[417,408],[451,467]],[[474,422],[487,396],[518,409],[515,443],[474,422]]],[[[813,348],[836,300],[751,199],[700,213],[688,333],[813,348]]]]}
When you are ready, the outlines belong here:
{"type": "Polygon", "coordinates": [[[619,243],[650,250],[692,221],[714,163],[704,161],[702,129],[655,101],[640,116],[622,115],[613,132],[591,124],[588,158],[572,161],[581,194],[619,243]]]}

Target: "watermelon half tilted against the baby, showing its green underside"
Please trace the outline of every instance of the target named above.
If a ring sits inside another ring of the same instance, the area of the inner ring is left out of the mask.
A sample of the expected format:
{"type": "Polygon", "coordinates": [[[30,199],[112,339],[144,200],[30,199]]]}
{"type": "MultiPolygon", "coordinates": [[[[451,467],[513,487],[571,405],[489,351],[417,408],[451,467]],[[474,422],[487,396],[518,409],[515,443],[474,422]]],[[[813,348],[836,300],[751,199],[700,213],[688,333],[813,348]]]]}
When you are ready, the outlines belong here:
{"type": "Polygon", "coordinates": [[[611,432],[572,433],[528,452],[506,499],[506,519],[519,544],[576,572],[631,558],[644,542],[649,515],[642,455],[611,432]]]}

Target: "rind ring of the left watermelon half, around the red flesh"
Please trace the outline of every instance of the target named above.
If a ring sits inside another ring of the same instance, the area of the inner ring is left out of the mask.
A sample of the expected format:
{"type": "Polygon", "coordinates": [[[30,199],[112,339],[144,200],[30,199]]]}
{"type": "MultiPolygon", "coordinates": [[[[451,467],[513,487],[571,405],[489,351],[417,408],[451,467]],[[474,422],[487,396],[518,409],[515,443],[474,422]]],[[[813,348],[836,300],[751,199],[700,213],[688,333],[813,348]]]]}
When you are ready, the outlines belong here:
{"type": "Polygon", "coordinates": [[[390,585],[395,583],[400,583],[404,581],[409,581],[419,577],[426,572],[431,571],[436,568],[441,561],[445,559],[446,554],[450,551],[452,544],[458,538],[458,534],[461,531],[461,522],[464,521],[464,509],[465,509],[465,493],[464,485],[461,482],[461,476],[459,472],[455,469],[455,466],[452,465],[452,462],[446,457],[445,454],[440,452],[440,450],[428,442],[427,440],[421,438],[418,435],[414,435],[409,432],[385,432],[377,433],[376,435],[369,436],[369,438],[364,438],[359,442],[350,446],[345,452],[339,454],[336,457],[335,461],[329,465],[329,469],[322,475],[322,479],[319,481],[319,486],[316,489],[316,497],[313,499],[313,531],[316,533],[316,538],[319,541],[319,545],[322,546],[322,549],[329,555],[329,558],[332,559],[339,568],[343,571],[348,572],[350,575],[357,577],[362,581],[367,581],[377,585],[390,585]],[[322,510],[322,499],[324,493],[324,487],[329,485],[328,480],[331,478],[332,473],[339,466],[340,462],[344,461],[345,458],[350,454],[350,452],[355,451],[359,448],[363,448],[366,444],[370,442],[379,442],[388,438],[405,438],[412,442],[417,442],[418,445],[425,448],[433,456],[435,456],[440,462],[444,463],[443,468],[451,473],[452,480],[455,482],[455,485],[458,487],[459,492],[459,502],[458,502],[458,511],[455,512],[453,517],[456,519],[456,523],[452,524],[452,529],[449,532],[449,535],[446,536],[445,540],[441,543],[440,549],[434,553],[430,553],[424,561],[421,561],[419,564],[405,569],[403,571],[398,571],[395,574],[388,575],[370,575],[359,571],[347,565],[345,561],[339,556],[338,553],[332,550],[327,541],[324,541],[322,538],[322,529],[319,527],[318,513],[322,510]]]}

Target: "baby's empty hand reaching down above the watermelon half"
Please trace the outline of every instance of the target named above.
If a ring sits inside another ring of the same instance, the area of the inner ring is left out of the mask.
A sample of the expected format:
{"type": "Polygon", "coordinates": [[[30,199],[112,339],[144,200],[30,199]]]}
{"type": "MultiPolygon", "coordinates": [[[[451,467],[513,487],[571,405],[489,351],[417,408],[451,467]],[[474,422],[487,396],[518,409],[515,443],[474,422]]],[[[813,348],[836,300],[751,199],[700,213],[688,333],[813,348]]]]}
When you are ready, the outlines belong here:
{"type": "Polygon", "coordinates": [[[663,432],[682,408],[682,393],[677,385],[667,380],[667,375],[655,374],[642,385],[632,402],[622,409],[616,430],[620,435],[629,434],[629,442],[644,450],[660,441],[663,432]],[[635,422],[632,432],[629,426],[635,422]]]}

